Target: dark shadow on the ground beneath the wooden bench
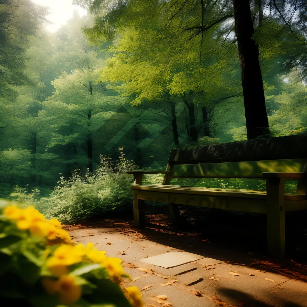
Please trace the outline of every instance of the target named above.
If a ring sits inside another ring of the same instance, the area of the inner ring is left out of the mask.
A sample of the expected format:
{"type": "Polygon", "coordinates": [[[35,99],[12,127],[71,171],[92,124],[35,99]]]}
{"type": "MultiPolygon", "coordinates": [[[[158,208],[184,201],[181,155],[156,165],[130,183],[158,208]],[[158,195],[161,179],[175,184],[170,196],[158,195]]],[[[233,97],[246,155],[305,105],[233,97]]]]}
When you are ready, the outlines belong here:
{"type": "Polygon", "coordinates": [[[148,206],[146,227],[142,229],[133,227],[131,213],[121,216],[115,213],[108,216],[111,219],[83,225],[117,228],[136,238],[307,282],[307,212],[286,215],[287,256],[282,260],[266,255],[265,215],[182,207],[181,216],[182,224],[178,228],[169,220],[165,207],[148,206]]]}

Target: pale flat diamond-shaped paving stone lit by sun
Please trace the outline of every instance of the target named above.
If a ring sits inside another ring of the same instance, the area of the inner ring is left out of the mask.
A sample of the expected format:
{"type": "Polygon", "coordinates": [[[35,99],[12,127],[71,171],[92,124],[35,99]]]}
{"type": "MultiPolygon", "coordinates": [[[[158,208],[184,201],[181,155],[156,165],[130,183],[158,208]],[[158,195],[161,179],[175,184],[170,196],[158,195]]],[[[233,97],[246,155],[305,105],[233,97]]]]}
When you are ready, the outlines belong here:
{"type": "Polygon", "coordinates": [[[189,262],[193,262],[204,258],[204,256],[188,253],[188,252],[169,252],[162,255],[143,258],[142,262],[153,264],[155,266],[162,266],[165,269],[170,269],[175,266],[180,266],[189,262]]]}

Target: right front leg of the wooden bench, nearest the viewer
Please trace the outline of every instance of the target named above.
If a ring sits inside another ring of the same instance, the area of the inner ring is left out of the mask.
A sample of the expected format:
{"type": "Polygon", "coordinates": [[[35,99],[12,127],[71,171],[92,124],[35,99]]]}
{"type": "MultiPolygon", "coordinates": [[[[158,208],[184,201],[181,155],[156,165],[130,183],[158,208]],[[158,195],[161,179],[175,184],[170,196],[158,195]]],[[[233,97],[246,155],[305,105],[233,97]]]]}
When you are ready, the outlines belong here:
{"type": "Polygon", "coordinates": [[[285,179],[266,180],[267,244],[270,255],[285,256],[285,179]]]}

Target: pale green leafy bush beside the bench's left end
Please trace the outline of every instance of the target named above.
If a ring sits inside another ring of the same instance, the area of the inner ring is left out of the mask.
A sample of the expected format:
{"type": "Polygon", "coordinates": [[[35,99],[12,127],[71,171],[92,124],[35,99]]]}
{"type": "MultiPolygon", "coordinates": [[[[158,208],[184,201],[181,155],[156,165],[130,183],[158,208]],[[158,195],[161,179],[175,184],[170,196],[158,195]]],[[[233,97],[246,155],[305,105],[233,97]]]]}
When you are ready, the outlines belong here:
{"type": "Polygon", "coordinates": [[[125,159],[123,148],[119,150],[117,164],[100,155],[100,166],[93,173],[87,171],[83,175],[76,169],[70,178],[61,177],[50,197],[35,202],[36,208],[48,218],[58,218],[69,224],[130,205],[133,177],[126,171],[134,169],[135,165],[133,160],[125,159]]]}

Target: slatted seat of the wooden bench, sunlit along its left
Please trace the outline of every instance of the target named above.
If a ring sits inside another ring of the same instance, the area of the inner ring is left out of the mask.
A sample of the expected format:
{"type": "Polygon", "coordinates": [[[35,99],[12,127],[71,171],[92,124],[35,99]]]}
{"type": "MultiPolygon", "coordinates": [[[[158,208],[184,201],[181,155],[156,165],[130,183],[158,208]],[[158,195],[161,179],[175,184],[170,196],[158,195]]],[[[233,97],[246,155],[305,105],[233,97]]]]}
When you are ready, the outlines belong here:
{"type": "MultiPolygon", "coordinates": [[[[266,191],[232,190],[220,188],[186,187],[181,185],[131,185],[132,190],[179,193],[206,196],[223,196],[266,200],[266,191]]],[[[285,200],[306,200],[304,194],[285,193],[285,200]]]]}

